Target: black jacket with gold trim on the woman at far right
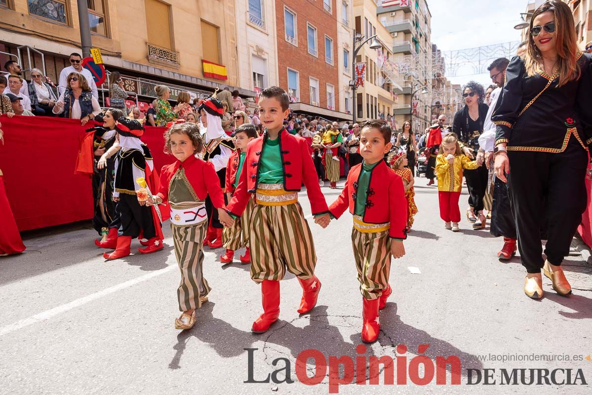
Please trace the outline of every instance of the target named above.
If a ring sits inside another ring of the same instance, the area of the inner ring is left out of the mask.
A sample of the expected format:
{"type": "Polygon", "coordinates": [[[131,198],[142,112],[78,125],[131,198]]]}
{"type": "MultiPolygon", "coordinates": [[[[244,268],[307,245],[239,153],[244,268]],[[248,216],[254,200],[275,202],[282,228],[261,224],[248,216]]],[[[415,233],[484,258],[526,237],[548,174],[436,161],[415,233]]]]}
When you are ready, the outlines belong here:
{"type": "Polygon", "coordinates": [[[537,70],[528,76],[524,60],[514,56],[506,70],[492,120],[496,144],[509,150],[563,152],[573,135],[592,144],[592,55],[580,54],[580,78],[558,86],[558,75],[537,70]]]}

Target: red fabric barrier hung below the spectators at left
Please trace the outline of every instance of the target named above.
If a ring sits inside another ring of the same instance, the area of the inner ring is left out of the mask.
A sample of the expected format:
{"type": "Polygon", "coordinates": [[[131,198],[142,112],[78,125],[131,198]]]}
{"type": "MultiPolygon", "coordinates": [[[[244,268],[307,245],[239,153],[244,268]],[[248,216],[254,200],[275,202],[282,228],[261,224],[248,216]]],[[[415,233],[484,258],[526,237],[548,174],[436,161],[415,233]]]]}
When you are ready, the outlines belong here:
{"type": "MultiPolygon", "coordinates": [[[[37,229],[92,218],[88,176],[74,175],[85,130],[78,120],[52,117],[0,117],[4,146],[0,169],[18,229],[37,229]]],[[[142,141],[160,174],[173,156],[163,153],[164,127],[147,127],[142,141]]]]}

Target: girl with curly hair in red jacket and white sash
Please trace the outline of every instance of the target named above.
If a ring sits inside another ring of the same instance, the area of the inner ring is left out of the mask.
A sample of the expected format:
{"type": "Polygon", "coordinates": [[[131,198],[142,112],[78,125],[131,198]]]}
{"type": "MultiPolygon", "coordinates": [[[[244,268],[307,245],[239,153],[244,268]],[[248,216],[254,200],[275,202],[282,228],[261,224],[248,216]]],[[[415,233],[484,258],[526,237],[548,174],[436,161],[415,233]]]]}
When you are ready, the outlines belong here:
{"type": "Polygon", "coordinates": [[[177,159],[163,166],[160,172],[160,191],[148,204],[170,204],[170,227],[173,233],[175,256],[181,270],[181,284],[177,289],[181,316],[175,320],[176,329],[191,329],[195,325],[195,309],[208,300],[210,286],[203,274],[203,242],[208,227],[205,197],[210,195],[220,220],[231,226],[233,220],[224,210],[220,179],[214,165],[195,158],[203,143],[200,129],[193,123],[175,123],[165,134],[165,152],[177,159]]]}

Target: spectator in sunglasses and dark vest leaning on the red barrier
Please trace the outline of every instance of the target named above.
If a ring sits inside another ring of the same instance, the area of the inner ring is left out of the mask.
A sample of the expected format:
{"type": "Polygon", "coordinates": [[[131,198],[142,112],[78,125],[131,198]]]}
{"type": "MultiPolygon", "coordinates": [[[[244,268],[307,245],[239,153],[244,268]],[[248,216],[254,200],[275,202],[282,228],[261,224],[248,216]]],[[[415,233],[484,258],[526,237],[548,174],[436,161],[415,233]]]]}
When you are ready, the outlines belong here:
{"type": "Polygon", "coordinates": [[[66,78],[67,89],[62,92],[53,106],[54,114],[81,120],[82,126],[101,114],[101,107],[92,95],[86,78],[80,73],[70,73],[66,78]]]}

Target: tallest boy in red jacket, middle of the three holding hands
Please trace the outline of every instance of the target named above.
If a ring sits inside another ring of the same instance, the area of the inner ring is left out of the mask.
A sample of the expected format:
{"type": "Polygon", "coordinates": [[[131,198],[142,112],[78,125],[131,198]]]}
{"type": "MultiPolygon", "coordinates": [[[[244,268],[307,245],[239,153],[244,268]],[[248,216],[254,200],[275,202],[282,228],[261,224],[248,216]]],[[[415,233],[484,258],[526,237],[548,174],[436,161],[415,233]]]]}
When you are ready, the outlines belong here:
{"type": "Polygon", "coordinates": [[[235,217],[255,194],[256,205],[250,216],[250,275],[261,284],[263,314],[252,331],[263,333],[279,316],[279,280],[286,270],[294,274],[303,288],[298,313],[304,314],[317,304],[321,282],[314,275],[317,255],[313,236],[298,191],[304,183],[315,222],[329,224],[329,208],[321,188],[308,143],[284,129],[289,114],[289,97],[284,89],[271,86],[259,94],[259,117],[265,127],[263,136],[247,146],[239,185],[227,210],[235,217]]]}

